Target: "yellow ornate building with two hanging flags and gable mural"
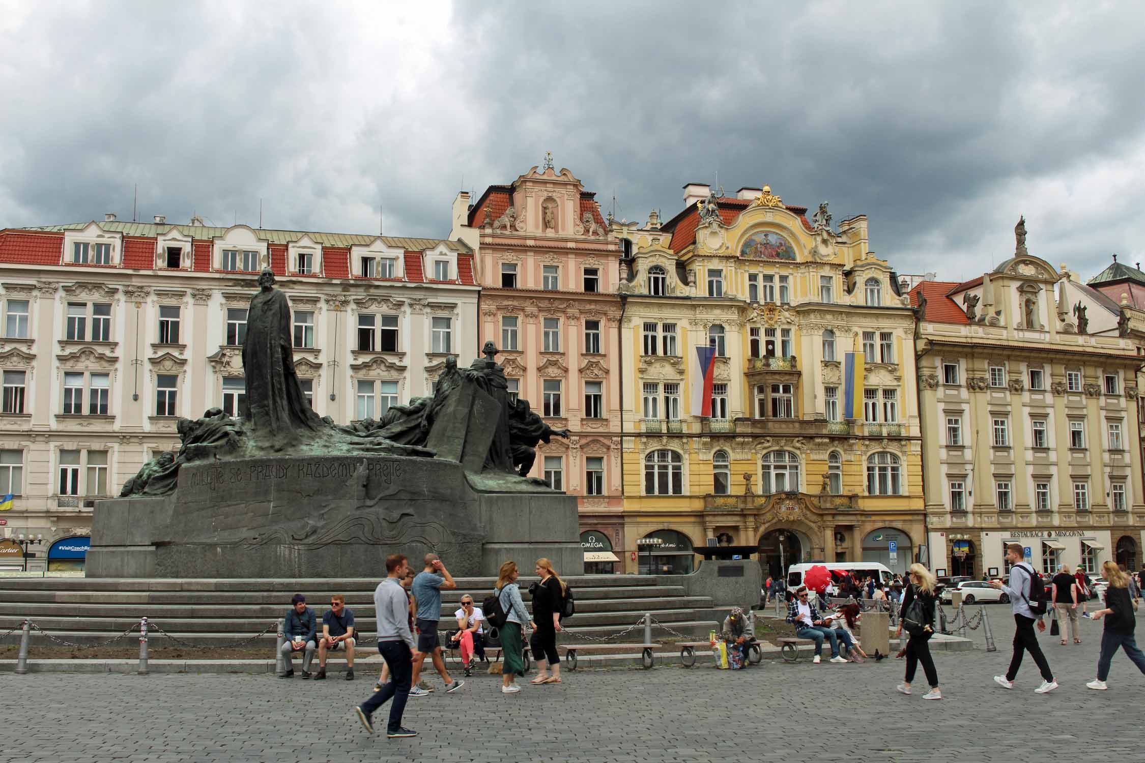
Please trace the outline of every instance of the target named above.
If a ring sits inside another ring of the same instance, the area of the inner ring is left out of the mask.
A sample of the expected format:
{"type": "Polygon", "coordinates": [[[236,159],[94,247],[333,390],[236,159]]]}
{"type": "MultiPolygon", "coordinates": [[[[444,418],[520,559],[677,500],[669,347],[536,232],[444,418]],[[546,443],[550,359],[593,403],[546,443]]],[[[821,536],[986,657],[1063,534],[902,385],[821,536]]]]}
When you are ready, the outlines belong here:
{"type": "Polygon", "coordinates": [[[867,218],[836,231],[826,204],[810,222],[766,186],[689,184],[666,223],[613,230],[629,571],[686,572],[716,543],[757,547],[765,574],[905,570],[925,543],[914,313],[867,218]]]}

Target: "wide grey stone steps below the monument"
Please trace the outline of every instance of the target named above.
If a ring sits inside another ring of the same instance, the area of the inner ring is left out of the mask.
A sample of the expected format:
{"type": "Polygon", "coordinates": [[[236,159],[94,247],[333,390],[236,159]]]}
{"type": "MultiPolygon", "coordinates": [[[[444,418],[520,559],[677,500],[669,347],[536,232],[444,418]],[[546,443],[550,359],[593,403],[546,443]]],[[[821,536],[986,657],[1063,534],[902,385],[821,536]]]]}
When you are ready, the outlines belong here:
{"type": "MultiPolygon", "coordinates": [[[[522,577],[522,589],[532,579],[522,577]]],[[[442,620],[452,623],[461,594],[481,601],[492,590],[493,578],[459,578],[456,590],[442,591],[442,620]]],[[[706,637],[719,627],[726,607],[716,609],[706,596],[688,596],[673,575],[582,575],[567,578],[575,591],[576,615],[559,635],[562,643],[609,638],[611,643],[643,641],[642,618],[654,619],[653,639],[706,637]],[[660,623],[660,625],[657,625],[660,623]],[[631,628],[631,626],[637,626],[631,628]],[[626,630],[629,629],[629,630],[626,630]],[[671,629],[671,630],[669,630],[671,629]],[[625,633],[626,630],[626,633],[625,633]]],[[[76,644],[96,644],[121,634],[140,618],[152,623],[152,649],[177,646],[155,626],[179,642],[195,646],[223,646],[251,639],[243,649],[274,654],[275,620],[285,617],[295,593],[306,596],[315,610],[321,630],[322,613],[331,594],[346,596],[354,611],[357,630],[370,643],[376,633],[373,590],[377,579],[113,579],[113,578],[0,578],[0,633],[30,618],[39,628],[76,644]]],[[[529,595],[522,590],[528,605],[529,595]]],[[[33,634],[35,643],[47,639],[33,634]]],[[[10,643],[11,637],[6,641],[10,643]]],[[[116,645],[132,645],[132,638],[116,645]]],[[[192,657],[188,654],[187,657],[192,657]]]]}

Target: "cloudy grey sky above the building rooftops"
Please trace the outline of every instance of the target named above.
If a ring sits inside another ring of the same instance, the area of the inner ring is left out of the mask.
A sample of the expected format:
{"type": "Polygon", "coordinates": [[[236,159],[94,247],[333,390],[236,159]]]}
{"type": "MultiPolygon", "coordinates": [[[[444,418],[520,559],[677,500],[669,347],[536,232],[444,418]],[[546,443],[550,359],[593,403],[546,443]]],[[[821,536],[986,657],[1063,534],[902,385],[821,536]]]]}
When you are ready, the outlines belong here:
{"type": "Polygon", "coordinates": [[[769,183],[900,271],[1145,261],[1140,3],[0,0],[0,226],[447,236],[552,151],[606,210],[769,183]],[[464,181],[463,181],[464,178],[464,181]]]}

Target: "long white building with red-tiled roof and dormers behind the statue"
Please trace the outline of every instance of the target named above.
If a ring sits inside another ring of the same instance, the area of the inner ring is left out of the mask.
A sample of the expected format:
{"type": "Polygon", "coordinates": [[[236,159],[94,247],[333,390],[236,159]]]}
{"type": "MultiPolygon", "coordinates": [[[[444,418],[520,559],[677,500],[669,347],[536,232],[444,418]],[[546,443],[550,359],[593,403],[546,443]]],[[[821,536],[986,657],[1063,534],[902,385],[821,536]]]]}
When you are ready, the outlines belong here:
{"type": "Polygon", "coordinates": [[[0,534],[86,534],[95,499],[177,448],[180,416],[240,412],[261,268],[290,299],[307,397],[346,422],[429,394],[448,355],[476,355],[473,257],[458,241],[197,218],[0,231],[0,494],[15,495],[0,534]]]}

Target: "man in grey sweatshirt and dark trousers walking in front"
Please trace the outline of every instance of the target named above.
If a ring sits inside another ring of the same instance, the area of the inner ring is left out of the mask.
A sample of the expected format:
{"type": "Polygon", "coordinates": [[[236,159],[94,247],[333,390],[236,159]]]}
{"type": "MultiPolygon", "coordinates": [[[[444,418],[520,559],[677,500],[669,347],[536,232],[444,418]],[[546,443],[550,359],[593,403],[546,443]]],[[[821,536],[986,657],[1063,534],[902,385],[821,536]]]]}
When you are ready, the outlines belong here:
{"type": "Polygon", "coordinates": [[[370,733],[373,733],[373,713],[386,700],[393,698],[389,706],[389,723],[386,736],[417,737],[418,732],[402,726],[402,713],[410,696],[410,679],[413,675],[413,633],[410,630],[409,599],[401,580],[409,570],[405,556],[390,554],[386,558],[386,579],[378,583],[373,591],[373,606],[378,614],[378,652],[389,667],[393,679],[373,692],[370,699],[354,708],[358,721],[370,733]]]}

